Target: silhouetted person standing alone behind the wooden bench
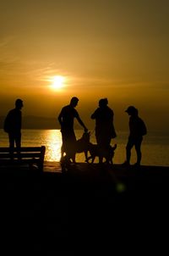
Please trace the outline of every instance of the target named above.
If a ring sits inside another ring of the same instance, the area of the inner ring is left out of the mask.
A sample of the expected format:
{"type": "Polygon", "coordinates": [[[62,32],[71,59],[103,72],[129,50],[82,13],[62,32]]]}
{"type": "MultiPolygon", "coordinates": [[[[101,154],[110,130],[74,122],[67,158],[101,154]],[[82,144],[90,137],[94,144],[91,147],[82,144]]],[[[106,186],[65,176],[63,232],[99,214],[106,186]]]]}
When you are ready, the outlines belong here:
{"type": "Polygon", "coordinates": [[[11,158],[13,158],[14,145],[18,153],[21,147],[22,107],[23,101],[18,98],[15,101],[15,109],[11,109],[4,120],[4,131],[8,132],[11,158]]]}

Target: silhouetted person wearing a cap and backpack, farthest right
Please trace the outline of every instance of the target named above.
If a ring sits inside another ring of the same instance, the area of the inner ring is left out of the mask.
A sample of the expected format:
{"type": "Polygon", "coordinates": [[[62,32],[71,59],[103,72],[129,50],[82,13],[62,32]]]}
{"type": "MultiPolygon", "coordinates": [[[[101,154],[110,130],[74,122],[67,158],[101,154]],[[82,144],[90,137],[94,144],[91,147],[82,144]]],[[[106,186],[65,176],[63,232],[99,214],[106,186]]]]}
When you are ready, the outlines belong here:
{"type": "Polygon", "coordinates": [[[146,126],[144,121],[139,118],[138,109],[135,109],[134,106],[129,106],[125,112],[130,115],[129,118],[129,136],[128,143],[126,146],[126,161],[123,165],[130,164],[131,158],[131,149],[135,147],[137,153],[137,162],[134,165],[140,165],[141,162],[141,143],[143,141],[143,136],[147,133],[146,126]]]}

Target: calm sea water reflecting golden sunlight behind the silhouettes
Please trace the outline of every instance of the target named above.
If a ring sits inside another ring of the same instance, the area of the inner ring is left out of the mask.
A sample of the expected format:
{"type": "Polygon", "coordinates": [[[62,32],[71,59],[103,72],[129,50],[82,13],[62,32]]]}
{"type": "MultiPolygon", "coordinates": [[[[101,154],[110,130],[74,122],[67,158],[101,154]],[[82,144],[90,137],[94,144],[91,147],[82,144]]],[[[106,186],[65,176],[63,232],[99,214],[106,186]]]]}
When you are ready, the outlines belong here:
{"type": "MultiPolygon", "coordinates": [[[[83,131],[75,131],[79,139],[83,131]]],[[[117,149],[114,156],[114,164],[122,164],[125,160],[125,146],[128,141],[128,132],[117,132],[117,138],[112,140],[112,145],[117,143],[117,149]]],[[[91,133],[90,142],[95,143],[95,133],[91,133]]],[[[23,130],[22,146],[46,146],[46,161],[59,161],[62,138],[60,130],[23,130]]],[[[8,147],[8,134],[0,129],[0,147],[8,147]]],[[[169,135],[148,134],[144,136],[142,144],[142,164],[169,166],[169,135]]],[[[84,162],[84,153],[77,153],[77,162],[84,162]]],[[[133,149],[131,163],[136,160],[133,149]]],[[[95,159],[97,162],[97,159],[95,159]]]]}

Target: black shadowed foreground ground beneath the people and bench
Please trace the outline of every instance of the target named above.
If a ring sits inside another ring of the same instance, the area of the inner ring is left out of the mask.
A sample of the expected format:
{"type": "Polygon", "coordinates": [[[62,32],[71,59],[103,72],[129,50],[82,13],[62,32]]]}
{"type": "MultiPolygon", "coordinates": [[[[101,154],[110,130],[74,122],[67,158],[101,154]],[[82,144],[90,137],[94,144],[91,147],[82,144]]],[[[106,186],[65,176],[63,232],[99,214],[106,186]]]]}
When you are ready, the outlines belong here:
{"type": "Polygon", "coordinates": [[[169,167],[1,168],[1,249],[46,255],[168,253],[169,167]],[[160,250],[160,251],[159,251],[160,250]]]}

